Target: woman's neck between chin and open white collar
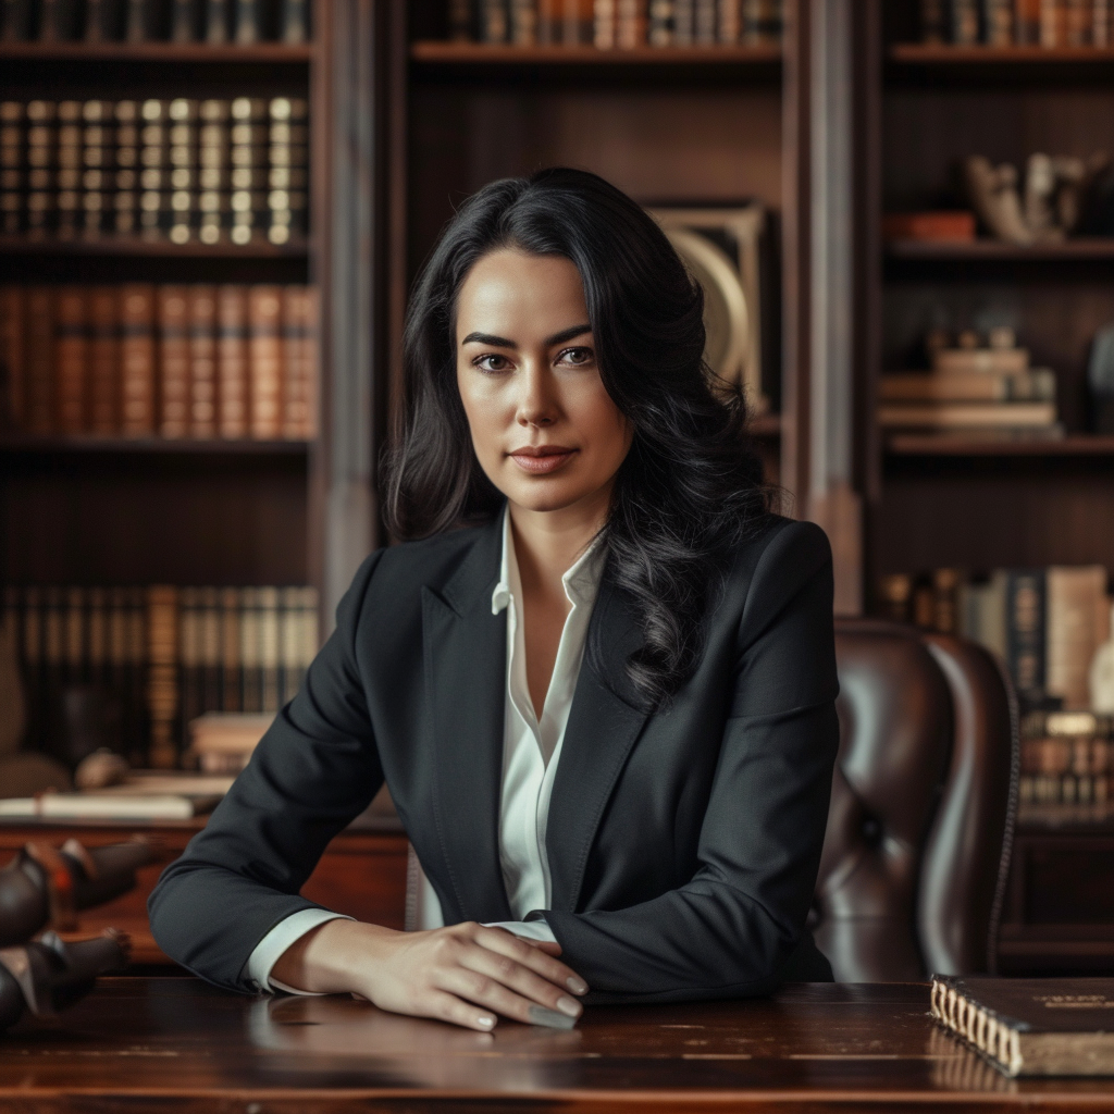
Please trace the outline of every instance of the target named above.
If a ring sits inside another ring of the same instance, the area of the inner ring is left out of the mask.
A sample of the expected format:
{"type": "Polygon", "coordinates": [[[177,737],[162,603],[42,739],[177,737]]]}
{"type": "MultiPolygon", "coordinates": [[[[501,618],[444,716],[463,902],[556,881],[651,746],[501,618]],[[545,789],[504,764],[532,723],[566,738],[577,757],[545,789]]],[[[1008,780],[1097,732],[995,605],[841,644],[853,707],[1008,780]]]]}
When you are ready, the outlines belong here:
{"type": "Polygon", "coordinates": [[[610,485],[571,507],[527,510],[509,504],[515,557],[524,590],[540,588],[564,598],[561,577],[607,521],[610,485]]]}

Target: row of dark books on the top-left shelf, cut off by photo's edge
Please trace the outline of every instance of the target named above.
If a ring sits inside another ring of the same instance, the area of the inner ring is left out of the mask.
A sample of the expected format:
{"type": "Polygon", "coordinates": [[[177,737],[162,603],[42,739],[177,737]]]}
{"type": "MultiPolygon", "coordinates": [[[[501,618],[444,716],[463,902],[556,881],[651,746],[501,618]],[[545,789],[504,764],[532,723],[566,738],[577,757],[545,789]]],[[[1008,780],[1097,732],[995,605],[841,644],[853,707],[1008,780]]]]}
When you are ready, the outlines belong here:
{"type": "Polygon", "coordinates": [[[2,0],[6,42],[299,43],[309,0],[2,0]]]}

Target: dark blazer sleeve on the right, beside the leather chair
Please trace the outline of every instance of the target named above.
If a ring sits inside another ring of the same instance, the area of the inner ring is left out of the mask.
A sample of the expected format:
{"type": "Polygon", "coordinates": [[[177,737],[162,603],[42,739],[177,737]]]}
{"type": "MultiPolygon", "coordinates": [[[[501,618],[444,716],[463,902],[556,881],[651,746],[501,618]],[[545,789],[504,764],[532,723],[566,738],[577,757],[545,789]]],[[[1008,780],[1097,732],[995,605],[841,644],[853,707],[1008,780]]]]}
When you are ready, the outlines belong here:
{"type": "MultiPolygon", "coordinates": [[[[678,889],[622,910],[544,916],[596,1001],[769,993],[825,967],[805,919],[839,746],[832,563],[817,526],[776,531],[758,560],[735,647],[732,706],[678,889]],[[792,961],[792,962],[791,962],[792,961]]],[[[828,975],[830,978],[830,975],[828,975]]]]}

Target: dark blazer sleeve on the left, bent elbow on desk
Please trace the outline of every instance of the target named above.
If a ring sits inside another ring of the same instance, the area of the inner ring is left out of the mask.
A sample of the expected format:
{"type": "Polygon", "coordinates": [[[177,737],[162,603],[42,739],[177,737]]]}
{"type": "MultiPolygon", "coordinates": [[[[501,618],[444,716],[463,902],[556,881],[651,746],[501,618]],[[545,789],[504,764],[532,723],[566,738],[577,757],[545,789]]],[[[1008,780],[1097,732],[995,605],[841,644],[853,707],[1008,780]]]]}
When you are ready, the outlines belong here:
{"type": "Polygon", "coordinates": [[[147,902],[163,951],[218,986],[254,990],[255,946],[292,913],[320,908],[299,890],[383,783],[354,648],[379,557],[356,574],[301,691],[147,902]]]}

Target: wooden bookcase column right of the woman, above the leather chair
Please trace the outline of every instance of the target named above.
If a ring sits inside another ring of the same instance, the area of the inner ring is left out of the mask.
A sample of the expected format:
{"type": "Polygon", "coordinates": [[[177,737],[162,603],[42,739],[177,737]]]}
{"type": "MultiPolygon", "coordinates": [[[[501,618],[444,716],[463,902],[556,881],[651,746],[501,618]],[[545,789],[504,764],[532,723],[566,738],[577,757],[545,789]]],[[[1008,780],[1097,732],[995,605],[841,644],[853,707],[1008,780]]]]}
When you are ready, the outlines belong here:
{"type": "Polygon", "coordinates": [[[857,0],[797,0],[786,41],[786,421],[795,511],[828,532],[836,612],[862,610],[856,452],[857,0]],[[790,285],[791,284],[791,285],[790,285]]]}

